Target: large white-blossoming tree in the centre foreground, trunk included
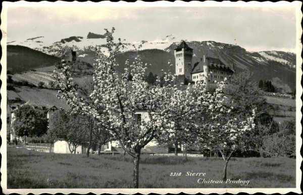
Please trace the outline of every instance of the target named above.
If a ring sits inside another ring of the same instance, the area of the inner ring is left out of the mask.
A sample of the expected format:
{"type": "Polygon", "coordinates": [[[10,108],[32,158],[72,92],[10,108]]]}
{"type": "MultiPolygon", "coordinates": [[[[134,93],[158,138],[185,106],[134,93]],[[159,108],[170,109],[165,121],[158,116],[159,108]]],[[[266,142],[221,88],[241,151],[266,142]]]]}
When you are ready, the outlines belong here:
{"type": "Polygon", "coordinates": [[[147,65],[143,65],[139,57],[133,63],[127,61],[127,68],[119,77],[116,55],[124,44],[120,39],[118,43],[114,42],[114,28],[111,32],[106,31],[109,55],[98,53],[93,75],[94,90],[89,95],[91,101],[85,101],[79,95],[70,67],[65,64],[62,72],[56,74],[60,87],[58,96],[67,101],[74,113],[90,116],[105,126],[134,158],[133,185],[138,187],[141,149],[156,134],[173,127],[174,124],[168,118],[180,115],[177,112],[171,114],[174,106],[172,100],[175,99],[177,89],[169,83],[174,79],[171,73],[164,76],[165,86],[160,86],[160,78],[157,78],[157,85],[148,86],[144,79],[147,65]],[[134,120],[134,114],[139,109],[148,113],[148,119],[138,123],[134,120]]]}

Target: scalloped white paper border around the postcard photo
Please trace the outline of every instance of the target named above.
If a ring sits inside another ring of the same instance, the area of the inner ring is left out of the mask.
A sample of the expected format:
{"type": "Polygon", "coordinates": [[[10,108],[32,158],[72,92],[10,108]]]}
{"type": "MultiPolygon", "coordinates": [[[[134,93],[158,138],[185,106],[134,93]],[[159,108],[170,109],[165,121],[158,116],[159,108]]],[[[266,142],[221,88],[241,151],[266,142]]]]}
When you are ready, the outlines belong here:
{"type": "Polygon", "coordinates": [[[302,52],[302,44],[301,44],[301,34],[302,34],[302,28],[301,28],[301,20],[302,20],[302,12],[300,10],[302,3],[299,1],[295,2],[229,2],[229,1],[224,1],[224,2],[215,2],[215,1],[206,1],[206,2],[182,2],[182,1],[175,1],[175,2],[166,2],[166,1],[161,1],[161,2],[142,2],[142,1],[137,1],[134,3],[128,3],[128,2],[99,2],[99,3],[94,3],[94,2],[62,2],[62,1],[57,1],[57,2],[25,2],[25,1],[19,1],[19,2],[3,2],[2,6],[2,13],[1,13],[1,31],[3,33],[2,39],[1,39],[1,46],[2,46],[2,59],[1,59],[1,64],[2,64],[2,72],[1,72],[1,80],[2,80],[2,86],[1,86],[1,110],[3,111],[1,113],[1,120],[6,121],[6,107],[7,107],[7,91],[6,91],[6,86],[7,86],[7,79],[6,79],[6,45],[7,45],[7,38],[6,38],[6,32],[7,32],[7,10],[8,7],[78,7],[78,6],[113,6],[113,7],[197,7],[197,6],[203,6],[203,7],[285,7],[285,6],[291,6],[294,7],[296,10],[296,187],[295,188],[139,188],[139,189],[7,189],[7,145],[6,145],[6,127],[7,124],[6,122],[2,123],[2,131],[0,132],[1,137],[4,139],[0,148],[0,152],[2,154],[2,166],[1,166],[1,186],[3,188],[3,192],[8,194],[8,193],[21,193],[21,194],[27,194],[27,193],[34,193],[34,194],[40,194],[40,193],[57,193],[61,192],[64,194],[70,193],[70,192],[75,192],[75,193],[88,193],[88,192],[93,192],[93,193],[111,193],[111,194],[117,194],[117,193],[126,193],[126,194],[132,194],[136,192],[140,192],[142,194],[148,194],[151,192],[154,193],[159,193],[159,194],[166,194],[166,193],[189,193],[189,194],[194,194],[194,193],[238,193],[238,192],[246,192],[246,193],[256,193],[256,192],[263,192],[267,194],[272,194],[272,193],[281,193],[285,194],[287,192],[296,192],[296,193],[301,193],[300,190],[300,183],[301,183],[301,175],[302,172],[300,170],[300,165],[302,162],[302,157],[300,155],[300,148],[302,145],[302,139],[300,137],[300,134],[302,132],[302,126],[301,126],[301,118],[302,118],[302,113],[300,111],[302,107],[302,101],[300,99],[302,95],[302,86],[301,86],[301,76],[302,76],[302,58],[301,58],[301,52],[302,52]],[[4,97],[4,98],[3,98],[4,97]]]}

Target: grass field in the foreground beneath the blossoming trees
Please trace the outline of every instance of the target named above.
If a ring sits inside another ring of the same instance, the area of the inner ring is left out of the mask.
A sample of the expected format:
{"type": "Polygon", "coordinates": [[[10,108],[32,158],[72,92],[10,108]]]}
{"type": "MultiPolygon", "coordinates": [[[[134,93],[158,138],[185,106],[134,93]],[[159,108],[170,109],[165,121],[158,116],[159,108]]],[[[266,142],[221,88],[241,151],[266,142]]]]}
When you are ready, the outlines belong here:
{"type": "MultiPolygon", "coordinates": [[[[129,188],[132,187],[132,158],[39,153],[8,145],[8,188],[129,188]]],[[[140,188],[295,187],[295,159],[232,158],[227,178],[249,180],[248,185],[197,183],[199,178],[221,180],[223,160],[217,158],[163,157],[142,155],[140,188]],[[185,176],[186,172],[203,176],[185,176]],[[181,172],[181,176],[170,176],[181,172]]]]}

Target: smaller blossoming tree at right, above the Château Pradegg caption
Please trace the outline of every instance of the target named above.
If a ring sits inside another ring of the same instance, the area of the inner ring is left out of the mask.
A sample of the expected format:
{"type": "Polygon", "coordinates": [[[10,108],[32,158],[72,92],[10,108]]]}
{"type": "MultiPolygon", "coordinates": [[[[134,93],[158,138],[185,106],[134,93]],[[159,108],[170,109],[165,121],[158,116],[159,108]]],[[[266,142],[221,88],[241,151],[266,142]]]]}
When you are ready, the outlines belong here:
{"type": "Polygon", "coordinates": [[[208,115],[200,126],[198,141],[205,149],[221,154],[224,160],[223,179],[226,180],[230,158],[238,149],[245,149],[249,145],[249,135],[255,128],[255,109],[246,110],[245,114],[235,111],[233,100],[227,99],[223,93],[224,87],[225,82],[222,81],[214,94],[207,94],[208,101],[205,101],[205,96],[199,99],[201,112],[208,115]]]}

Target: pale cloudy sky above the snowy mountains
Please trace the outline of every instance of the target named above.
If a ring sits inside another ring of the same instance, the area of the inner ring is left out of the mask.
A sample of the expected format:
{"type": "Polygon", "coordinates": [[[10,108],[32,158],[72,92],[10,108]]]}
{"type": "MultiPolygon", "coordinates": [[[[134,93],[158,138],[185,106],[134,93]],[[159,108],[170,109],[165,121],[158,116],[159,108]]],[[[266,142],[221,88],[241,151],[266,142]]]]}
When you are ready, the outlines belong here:
{"type": "Polygon", "coordinates": [[[213,40],[247,51],[295,52],[296,17],[291,7],[9,7],[8,42],[44,36],[50,42],[88,32],[127,42],[213,40]]]}

